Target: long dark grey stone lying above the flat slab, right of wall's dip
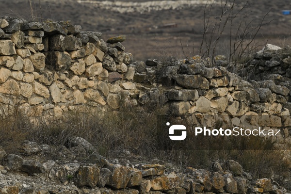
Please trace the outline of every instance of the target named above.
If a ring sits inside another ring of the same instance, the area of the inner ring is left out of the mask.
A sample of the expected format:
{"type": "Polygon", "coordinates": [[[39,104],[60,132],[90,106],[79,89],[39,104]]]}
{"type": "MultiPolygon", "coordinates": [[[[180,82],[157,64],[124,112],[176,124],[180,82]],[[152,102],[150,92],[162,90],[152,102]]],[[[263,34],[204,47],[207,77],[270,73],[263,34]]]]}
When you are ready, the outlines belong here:
{"type": "Polygon", "coordinates": [[[178,85],[185,88],[194,88],[194,89],[209,89],[209,82],[206,78],[201,77],[200,75],[184,75],[178,74],[173,77],[177,81],[178,85]]]}

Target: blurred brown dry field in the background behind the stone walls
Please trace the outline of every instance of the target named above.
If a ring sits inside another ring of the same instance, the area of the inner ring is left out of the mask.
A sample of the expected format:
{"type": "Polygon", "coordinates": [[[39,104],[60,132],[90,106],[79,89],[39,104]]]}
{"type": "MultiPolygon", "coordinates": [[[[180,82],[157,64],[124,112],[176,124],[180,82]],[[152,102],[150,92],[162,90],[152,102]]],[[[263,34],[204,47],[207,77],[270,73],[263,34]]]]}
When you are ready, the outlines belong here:
{"type": "MultiPolygon", "coordinates": [[[[129,1],[129,0],[123,0],[129,1]]],[[[34,15],[40,15],[39,1],[32,0],[34,15]]],[[[80,4],[76,0],[47,0],[41,2],[42,17],[54,20],[71,20],[73,24],[79,24],[84,31],[102,32],[102,38],[107,40],[111,36],[125,34],[127,36],[123,45],[127,52],[131,52],[135,61],[148,58],[161,59],[165,56],[185,58],[182,53],[181,43],[188,57],[198,54],[202,32],[204,5],[185,8],[181,10],[162,10],[147,13],[126,13],[102,10],[92,4],[80,4]],[[160,28],[167,23],[176,23],[176,28],[160,28]],[[158,27],[158,28],[155,28],[158,27]],[[180,43],[181,42],[181,43],[180,43]]],[[[290,0],[250,0],[250,6],[245,8],[252,27],[256,27],[261,18],[269,11],[265,21],[270,23],[262,26],[256,41],[267,40],[270,44],[285,47],[291,40],[291,16],[283,16],[281,10],[291,9],[290,0]]],[[[31,19],[31,11],[28,0],[0,0],[0,16],[16,16],[31,19]]],[[[220,7],[213,7],[210,12],[210,20],[217,21],[220,7]]],[[[242,13],[236,22],[245,13],[242,13]]],[[[40,20],[40,19],[38,19],[40,20]]],[[[237,23],[236,23],[237,24],[237,23]]],[[[235,28],[235,24],[233,24],[235,28]]],[[[233,28],[233,29],[234,29],[233,28]]],[[[228,53],[229,32],[220,38],[217,54],[228,53]]],[[[261,49],[263,46],[259,46],[261,49]]]]}

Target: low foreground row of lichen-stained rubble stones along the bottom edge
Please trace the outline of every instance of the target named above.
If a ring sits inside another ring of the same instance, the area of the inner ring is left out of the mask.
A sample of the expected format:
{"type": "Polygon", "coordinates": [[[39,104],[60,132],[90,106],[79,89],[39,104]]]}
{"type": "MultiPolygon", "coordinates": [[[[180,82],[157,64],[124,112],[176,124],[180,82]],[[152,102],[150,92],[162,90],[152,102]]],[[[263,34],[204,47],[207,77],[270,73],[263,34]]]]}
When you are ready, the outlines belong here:
{"type": "Polygon", "coordinates": [[[80,137],[72,137],[71,143],[58,153],[65,162],[42,162],[45,155],[56,151],[48,145],[25,142],[20,155],[7,154],[0,147],[0,194],[288,193],[270,178],[252,178],[233,160],[213,162],[210,170],[188,167],[181,172],[169,172],[158,159],[150,164],[121,165],[95,154],[93,160],[80,163],[67,161],[74,149],[92,150],[94,146],[80,137]]]}

